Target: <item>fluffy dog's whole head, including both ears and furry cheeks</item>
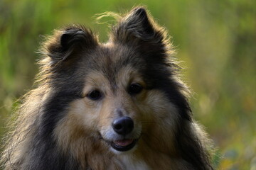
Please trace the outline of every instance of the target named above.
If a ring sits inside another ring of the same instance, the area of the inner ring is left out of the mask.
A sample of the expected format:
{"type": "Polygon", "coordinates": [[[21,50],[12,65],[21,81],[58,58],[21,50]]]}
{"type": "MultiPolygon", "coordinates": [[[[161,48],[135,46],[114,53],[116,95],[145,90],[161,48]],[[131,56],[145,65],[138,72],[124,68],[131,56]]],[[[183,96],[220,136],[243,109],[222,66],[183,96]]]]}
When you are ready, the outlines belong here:
{"type": "Polygon", "coordinates": [[[178,122],[191,115],[166,31],[144,8],[122,17],[105,44],[90,30],[71,26],[56,31],[44,49],[49,57],[42,80],[68,103],[55,103],[63,113],[55,116],[54,129],[62,148],[174,149],[178,122]]]}

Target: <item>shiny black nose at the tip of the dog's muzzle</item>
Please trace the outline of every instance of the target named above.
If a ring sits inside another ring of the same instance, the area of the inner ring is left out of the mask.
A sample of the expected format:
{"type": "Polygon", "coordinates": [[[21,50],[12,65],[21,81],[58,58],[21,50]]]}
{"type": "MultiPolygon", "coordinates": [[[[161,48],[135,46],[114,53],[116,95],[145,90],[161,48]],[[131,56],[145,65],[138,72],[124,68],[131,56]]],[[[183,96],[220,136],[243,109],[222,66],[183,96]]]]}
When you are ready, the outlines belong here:
{"type": "Polygon", "coordinates": [[[127,135],[129,132],[132,132],[134,128],[134,122],[131,118],[124,116],[114,120],[112,127],[114,132],[117,132],[119,135],[127,135]]]}

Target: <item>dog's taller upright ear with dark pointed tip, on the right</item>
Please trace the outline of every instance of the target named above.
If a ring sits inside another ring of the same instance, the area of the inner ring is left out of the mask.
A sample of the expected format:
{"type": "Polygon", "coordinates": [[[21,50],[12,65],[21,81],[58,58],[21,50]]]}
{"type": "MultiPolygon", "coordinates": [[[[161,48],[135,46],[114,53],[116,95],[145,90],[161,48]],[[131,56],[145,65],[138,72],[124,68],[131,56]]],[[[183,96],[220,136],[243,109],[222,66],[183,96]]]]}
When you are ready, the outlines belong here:
{"type": "Polygon", "coordinates": [[[134,8],[112,29],[112,42],[136,45],[147,52],[164,52],[167,41],[166,31],[158,26],[142,7],[134,8]]]}

